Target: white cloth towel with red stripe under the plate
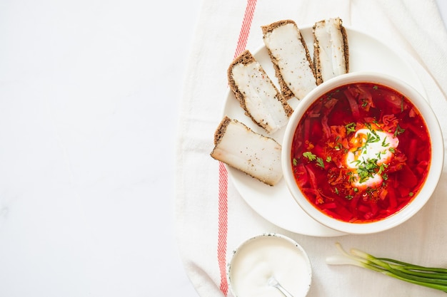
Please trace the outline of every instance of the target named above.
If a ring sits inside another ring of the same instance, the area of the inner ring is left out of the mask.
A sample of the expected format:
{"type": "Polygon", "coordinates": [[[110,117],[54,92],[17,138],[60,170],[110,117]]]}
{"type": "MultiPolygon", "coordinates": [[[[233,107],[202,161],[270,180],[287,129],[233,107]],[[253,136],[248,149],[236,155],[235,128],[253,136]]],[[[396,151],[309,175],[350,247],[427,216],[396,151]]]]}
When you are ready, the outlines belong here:
{"type": "Polygon", "coordinates": [[[210,157],[223,116],[226,69],[245,48],[262,44],[260,26],[298,26],[339,16],[350,28],[398,51],[416,72],[447,135],[447,33],[433,0],[203,1],[184,85],[176,150],[176,236],[186,273],[200,296],[232,296],[226,264],[241,241],[278,232],[298,241],[313,268],[310,297],[444,296],[354,266],[328,266],[334,243],[426,266],[447,266],[447,170],[435,194],[404,224],[371,235],[307,236],[281,229],[246,204],[226,167],[210,157]]]}

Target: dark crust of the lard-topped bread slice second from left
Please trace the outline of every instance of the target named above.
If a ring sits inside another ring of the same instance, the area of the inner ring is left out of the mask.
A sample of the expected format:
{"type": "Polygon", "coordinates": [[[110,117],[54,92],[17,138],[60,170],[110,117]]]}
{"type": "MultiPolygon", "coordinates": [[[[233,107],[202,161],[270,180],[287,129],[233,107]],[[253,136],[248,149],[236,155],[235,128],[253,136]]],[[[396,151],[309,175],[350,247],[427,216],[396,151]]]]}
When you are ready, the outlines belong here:
{"type": "MultiPolygon", "coordinates": [[[[238,85],[236,84],[236,80],[234,80],[234,78],[233,78],[233,68],[234,68],[234,66],[236,66],[238,64],[247,65],[249,63],[256,63],[256,59],[251,54],[251,52],[248,51],[248,50],[247,51],[243,51],[243,53],[241,53],[240,56],[238,56],[237,58],[234,59],[234,61],[228,67],[228,71],[227,71],[228,85],[229,85],[231,91],[233,91],[233,94],[236,97],[236,99],[239,101],[239,104],[241,105],[241,108],[243,108],[243,110],[245,111],[245,114],[249,118],[251,118],[251,120],[253,120],[253,123],[256,123],[256,125],[258,125],[259,127],[263,128],[261,123],[258,123],[258,121],[256,121],[253,118],[253,116],[250,113],[250,110],[248,110],[248,108],[246,107],[245,95],[243,95],[241,90],[239,90],[238,85]]],[[[261,73],[263,73],[264,75],[266,75],[266,77],[268,77],[267,73],[263,70],[262,66],[260,66],[259,71],[261,71],[261,73]]],[[[279,92],[279,90],[277,90],[276,86],[273,85],[273,83],[271,83],[271,85],[276,90],[276,98],[281,102],[281,105],[283,105],[284,112],[286,113],[287,117],[290,117],[291,114],[293,113],[293,109],[291,108],[290,105],[288,105],[287,100],[283,97],[281,92],[279,92]]]]}

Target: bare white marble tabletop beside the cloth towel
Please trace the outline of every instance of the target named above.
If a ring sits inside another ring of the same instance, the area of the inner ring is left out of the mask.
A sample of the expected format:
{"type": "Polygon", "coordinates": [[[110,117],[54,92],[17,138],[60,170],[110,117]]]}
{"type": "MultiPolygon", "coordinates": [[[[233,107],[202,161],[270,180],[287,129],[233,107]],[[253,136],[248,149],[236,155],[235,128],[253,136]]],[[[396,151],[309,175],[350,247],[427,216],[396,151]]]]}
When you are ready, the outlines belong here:
{"type": "Polygon", "coordinates": [[[199,8],[0,1],[0,296],[197,296],[173,156],[199,8]]]}

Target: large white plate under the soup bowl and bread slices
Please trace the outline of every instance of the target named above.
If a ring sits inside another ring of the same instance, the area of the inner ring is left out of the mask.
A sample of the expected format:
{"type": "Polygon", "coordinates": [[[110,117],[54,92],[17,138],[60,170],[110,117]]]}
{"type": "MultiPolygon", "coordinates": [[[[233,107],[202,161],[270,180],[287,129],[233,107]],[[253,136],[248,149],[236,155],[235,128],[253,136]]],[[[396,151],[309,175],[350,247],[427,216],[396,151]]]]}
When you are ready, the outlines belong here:
{"type": "MultiPolygon", "coordinates": [[[[300,30],[306,40],[308,50],[312,55],[312,28],[311,26],[307,26],[300,28],[300,30]]],[[[350,72],[376,71],[394,75],[413,85],[414,88],[425,95],[416,73],[405,61],[402,54],[393,51],[393,49],[386,46],[386,44],[381,43],[381,41],[378,41],[376,38],[368,36],[365,33],[356,31],[352,28],[346,28],[346,31],[348,33],[349,43],[350,72]]],[[[261,48],[258,48],[257,51],[252,51],[252,53],[253,56],[256,57],[256,60],[261,63],[271,80],[277,85],[273,66],[268,57],[266,48],[261,46],[261,48]]],[[[289,100],[289,103],[293,108],[299,108],[298,100],[295,98],[289,100]]],[[[224,115],[240,120],[248,127],[251,127],[255,132],[266,135],[261,128],[256,126],[250,118],[243,114],[243,110],[240,107],[238,100],[234,98],[231,90],[228,90],[226,96],[224,115]]],[[[282,143],[284,130],[285,128],[268,136],[273,137],[276,141],[282,143]]],[[[309,236],[343,235],[340,231],[329,229],[309,217],[308,214],[298,206],[290,192],[288,192],[286,183],[283,179],[281,179],[281,182],[274,187],[270,187],[231,167],[227,167],[227,169],[236,189],[246,203],[269,222],[288,231],[309,236]]]]}

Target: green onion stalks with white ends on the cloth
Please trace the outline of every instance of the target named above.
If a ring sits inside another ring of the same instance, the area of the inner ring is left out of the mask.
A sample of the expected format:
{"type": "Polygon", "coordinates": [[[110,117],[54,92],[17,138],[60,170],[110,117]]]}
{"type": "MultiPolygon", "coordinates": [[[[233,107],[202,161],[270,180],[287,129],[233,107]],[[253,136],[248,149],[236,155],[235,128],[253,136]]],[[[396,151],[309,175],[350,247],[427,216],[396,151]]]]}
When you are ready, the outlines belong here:
{"type": "Polygon", "coordinates": [[[339,243],[336,243],[336,247],[341,251],[341,255],[327,257],[327,264],[359,266],[398,278],[401,281],[447,293],[447,269],[418,266],[389,258],[378,258],[359,249],[351,249],[351,254],[349,254],[343,250],[339,243]]]}

